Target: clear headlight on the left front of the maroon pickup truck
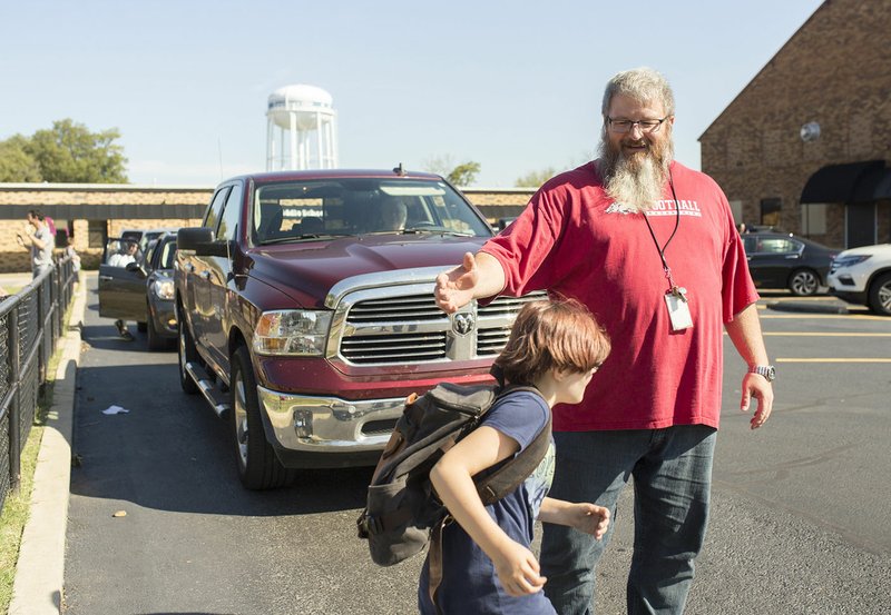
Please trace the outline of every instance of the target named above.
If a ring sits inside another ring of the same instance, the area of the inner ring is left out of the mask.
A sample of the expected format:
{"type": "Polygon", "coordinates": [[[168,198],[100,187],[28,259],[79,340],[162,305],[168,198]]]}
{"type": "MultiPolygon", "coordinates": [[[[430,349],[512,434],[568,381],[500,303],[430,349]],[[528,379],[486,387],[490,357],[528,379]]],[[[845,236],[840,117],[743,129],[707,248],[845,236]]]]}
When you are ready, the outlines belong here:
{"type": "Polygon", "coordinates": [[[254,327],[254,351],[258,355],[323,356],[331,317],[331,311],[311,309],[264,311],[254,327]]]}

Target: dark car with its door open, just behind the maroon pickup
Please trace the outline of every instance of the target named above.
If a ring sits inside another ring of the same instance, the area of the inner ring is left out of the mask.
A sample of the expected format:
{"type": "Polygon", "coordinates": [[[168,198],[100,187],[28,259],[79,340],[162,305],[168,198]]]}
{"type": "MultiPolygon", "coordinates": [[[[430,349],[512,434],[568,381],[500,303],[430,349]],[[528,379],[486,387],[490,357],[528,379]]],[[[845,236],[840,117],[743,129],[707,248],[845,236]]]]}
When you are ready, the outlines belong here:
{"type": "MultiPolygon", "coordinates": [[[[109,244],[119,244],[111,239],[109,244]]],[[[112,252],[112,249],[108,249],[112,252]]],[[[177,338],[173,266],[176,235],[164,232],[133,262],[99,266],[99,316],[135,320],[151,350],[173,348],[177,338]]]]}

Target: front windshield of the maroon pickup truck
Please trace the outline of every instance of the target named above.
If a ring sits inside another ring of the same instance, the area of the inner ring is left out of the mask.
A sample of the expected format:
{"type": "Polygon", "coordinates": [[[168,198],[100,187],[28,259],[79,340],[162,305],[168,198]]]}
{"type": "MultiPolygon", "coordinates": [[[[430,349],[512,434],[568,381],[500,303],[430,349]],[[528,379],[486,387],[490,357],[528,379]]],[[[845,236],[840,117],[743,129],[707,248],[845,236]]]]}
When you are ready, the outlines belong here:
{"type": "Polygon", "coordinates": [[[368,234],[492,235],[448,183],[402,178],[263,183],[254,194],[252,220],[254,244],[368,234]]]}

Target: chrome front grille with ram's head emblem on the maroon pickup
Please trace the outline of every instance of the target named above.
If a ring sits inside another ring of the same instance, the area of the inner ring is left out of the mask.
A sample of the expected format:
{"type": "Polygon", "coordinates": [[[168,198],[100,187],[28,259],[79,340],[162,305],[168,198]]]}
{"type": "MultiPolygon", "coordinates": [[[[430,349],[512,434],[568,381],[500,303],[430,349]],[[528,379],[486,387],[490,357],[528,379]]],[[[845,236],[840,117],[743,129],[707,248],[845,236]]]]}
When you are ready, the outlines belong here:
{"type": "Polygon", "coordinates": [[[544,297],[499,297],[470,313],[473,326],[466,333],[453,329],[430,292],[361,300],[346,313],[347,333],[339,354],[349,364],[365,366],[495,357],[523,304],[544,297]]]}

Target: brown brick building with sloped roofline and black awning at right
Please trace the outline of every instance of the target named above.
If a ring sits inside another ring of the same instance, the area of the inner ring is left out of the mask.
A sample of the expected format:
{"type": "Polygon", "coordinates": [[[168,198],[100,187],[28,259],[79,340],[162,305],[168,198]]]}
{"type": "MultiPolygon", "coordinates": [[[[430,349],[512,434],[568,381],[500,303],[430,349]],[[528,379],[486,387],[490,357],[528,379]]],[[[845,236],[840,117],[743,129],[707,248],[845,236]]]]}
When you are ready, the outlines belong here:
{"type": "Polygon", "coordinates": [[[891,0],[823,2],[699,142],[737,221],[891,241],[891,0]]]}

